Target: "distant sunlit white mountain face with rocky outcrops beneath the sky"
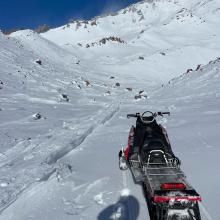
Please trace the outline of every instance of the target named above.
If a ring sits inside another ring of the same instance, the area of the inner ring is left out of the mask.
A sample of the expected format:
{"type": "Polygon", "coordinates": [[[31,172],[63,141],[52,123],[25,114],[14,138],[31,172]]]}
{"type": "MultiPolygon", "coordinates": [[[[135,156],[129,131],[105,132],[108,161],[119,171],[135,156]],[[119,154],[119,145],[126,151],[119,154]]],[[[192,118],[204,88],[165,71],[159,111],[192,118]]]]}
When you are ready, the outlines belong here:
{"type": "Polygon", "coordinates": [[[128,84],[134,74],[140,83],[164,83],[219,56],[219,7],[217,0],[143,1],[42,36],[128,84]]]}

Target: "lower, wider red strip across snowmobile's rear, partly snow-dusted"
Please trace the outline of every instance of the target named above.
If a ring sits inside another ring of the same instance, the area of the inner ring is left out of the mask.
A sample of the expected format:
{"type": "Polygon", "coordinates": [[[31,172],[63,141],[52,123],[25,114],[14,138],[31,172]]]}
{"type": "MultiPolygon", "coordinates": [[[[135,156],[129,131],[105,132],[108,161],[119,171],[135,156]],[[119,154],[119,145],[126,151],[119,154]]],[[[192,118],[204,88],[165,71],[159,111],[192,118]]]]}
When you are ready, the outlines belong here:
{"type": "Polygon", "coordinates": [[[200,196],[154,196],[154,202],[163,203],[170,201],[190,201],[190,202],[201,202],[202,198],[200,196]]]}

